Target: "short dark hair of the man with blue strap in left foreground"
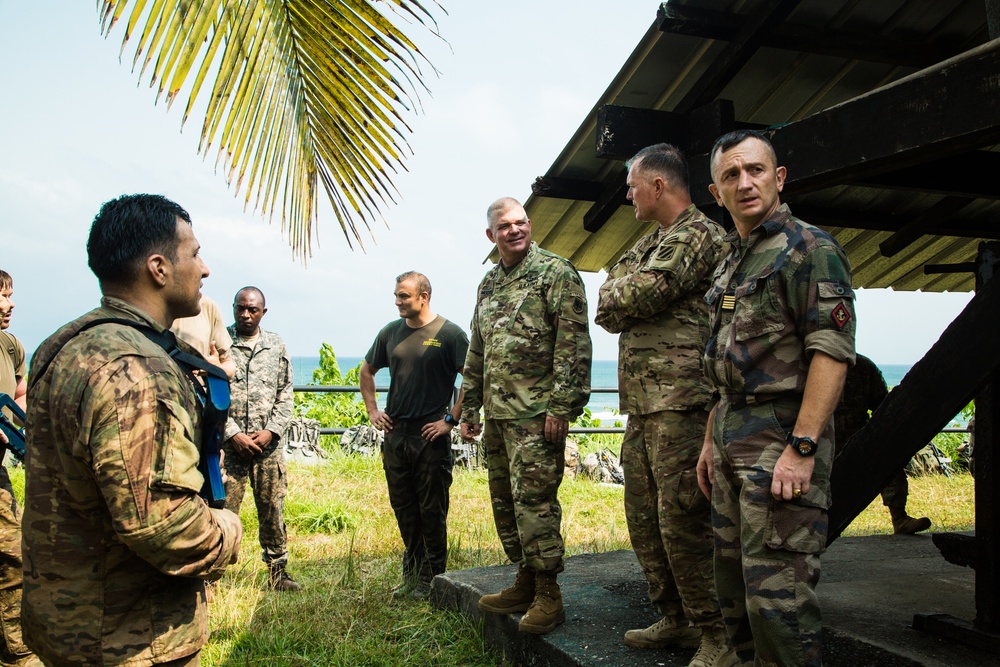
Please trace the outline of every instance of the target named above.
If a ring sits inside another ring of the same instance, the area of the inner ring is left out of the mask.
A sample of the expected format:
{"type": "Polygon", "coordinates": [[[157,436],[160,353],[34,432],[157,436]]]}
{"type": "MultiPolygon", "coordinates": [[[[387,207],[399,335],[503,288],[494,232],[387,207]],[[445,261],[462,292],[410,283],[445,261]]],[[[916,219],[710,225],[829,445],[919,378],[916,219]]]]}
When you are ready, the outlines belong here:
{"type": "Polygon", "coordinates": [[[101,206],[90,226],[87,264],[101,285],[135,280],[152,254],[177,260],[177,219],[191,224],[179,204],[160,195],[122,195],[101,206]]]}

